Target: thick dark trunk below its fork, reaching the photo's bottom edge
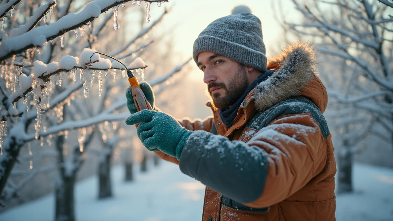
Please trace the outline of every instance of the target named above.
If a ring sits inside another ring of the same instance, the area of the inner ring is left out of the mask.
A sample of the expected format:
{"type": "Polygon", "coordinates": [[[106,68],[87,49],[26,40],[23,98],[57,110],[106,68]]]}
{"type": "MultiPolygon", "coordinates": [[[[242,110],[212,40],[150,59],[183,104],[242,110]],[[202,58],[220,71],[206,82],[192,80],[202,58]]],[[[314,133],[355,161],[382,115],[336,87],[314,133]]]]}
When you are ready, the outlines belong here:
{"type": "Polygon", "coordinates": [[[56,185],[55,221],[75,221],[74,186],[75,174],[60,177],[56,185]]]}

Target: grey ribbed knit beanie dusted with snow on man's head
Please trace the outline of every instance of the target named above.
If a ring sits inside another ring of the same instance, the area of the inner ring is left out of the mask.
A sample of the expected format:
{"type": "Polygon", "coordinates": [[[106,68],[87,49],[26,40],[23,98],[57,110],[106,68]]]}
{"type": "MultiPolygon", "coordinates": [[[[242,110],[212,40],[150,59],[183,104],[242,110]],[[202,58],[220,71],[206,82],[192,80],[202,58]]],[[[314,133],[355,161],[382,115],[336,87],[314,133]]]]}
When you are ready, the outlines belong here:
{"type": "Polygon", "coordinates": [[[262,72],[266,71],[261,21],[251,13],[232,14],[211,22],[194,42],[193,58],[215,52],[262,72]]]}

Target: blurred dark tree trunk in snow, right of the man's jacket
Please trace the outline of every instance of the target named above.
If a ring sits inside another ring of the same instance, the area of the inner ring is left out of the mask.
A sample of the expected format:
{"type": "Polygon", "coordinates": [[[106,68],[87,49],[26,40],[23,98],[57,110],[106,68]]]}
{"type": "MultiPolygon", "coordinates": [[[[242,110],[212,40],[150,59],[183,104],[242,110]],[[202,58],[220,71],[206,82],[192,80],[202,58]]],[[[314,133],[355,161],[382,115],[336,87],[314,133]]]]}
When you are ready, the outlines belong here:
{"type": "Polygon", "coordinates": [[[338,193],[349,193],[352,188],[352,158],[353,154],[347,142],[344,141],[343,150],[338,159],[338,193]]]}

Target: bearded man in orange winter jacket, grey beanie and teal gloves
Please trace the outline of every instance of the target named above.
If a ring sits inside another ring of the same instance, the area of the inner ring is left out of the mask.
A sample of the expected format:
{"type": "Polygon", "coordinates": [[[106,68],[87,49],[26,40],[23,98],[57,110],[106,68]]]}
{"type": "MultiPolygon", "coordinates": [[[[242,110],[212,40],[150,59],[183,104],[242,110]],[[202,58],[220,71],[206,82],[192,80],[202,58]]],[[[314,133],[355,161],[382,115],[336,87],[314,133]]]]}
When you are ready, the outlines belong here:
{"type": "Polygon", "coordinates": [[[147,149],[206,185],[202,220],[335,220],[327,93],[312,47],[292,44],[267,61],[260,20],[241,13],[209,24],[193,57],[213,117],[179,124],[163,112],[135,113],[127,90],[126,123],[140,123],[147,149]]]}

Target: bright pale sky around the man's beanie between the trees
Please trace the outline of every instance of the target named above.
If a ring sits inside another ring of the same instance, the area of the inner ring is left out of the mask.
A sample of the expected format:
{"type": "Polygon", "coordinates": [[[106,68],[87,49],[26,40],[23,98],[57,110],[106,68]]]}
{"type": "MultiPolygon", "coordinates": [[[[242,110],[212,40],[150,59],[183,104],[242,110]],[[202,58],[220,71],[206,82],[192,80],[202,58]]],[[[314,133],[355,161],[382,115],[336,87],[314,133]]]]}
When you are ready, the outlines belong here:
{"type": "MultiPolygon", "coordinates": [[[[275,1],[278,6],[279,1],[275,1]]],[[[290,0],[281,0],[281,9],[289,18],[296,19],[296,10],[290,0]]],[[[174,50],[186,57],[192,56],[193,43],[199,33],[217,18],[230,15],[231,9],[237,5],[251,8],[253,15],[262,23],[263,41],[266,46],[266,56],[272,57],[279,48],[285,45],[283,31],[274,18],[271,0],[169,0],[161,8],[156,3],[151,4],[151,21],[156,20],[162,13],[163,7],[172,7],[159,29],[174,27],[174,50]]],[[[143,4],[141,4],[141,7],[143,4]]],[[[192,72],[200,72],[194,63],[192,72]]],[[[191,73],[190,73],[191,74],[191,73]]],[[[195,76],[192,74],[192,76],[195,76]]],[[[198,73],[196,76],[201,78],[198,73]]]]}

